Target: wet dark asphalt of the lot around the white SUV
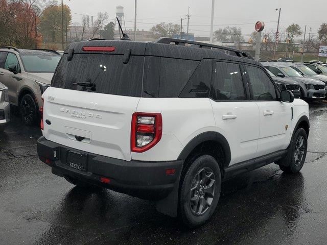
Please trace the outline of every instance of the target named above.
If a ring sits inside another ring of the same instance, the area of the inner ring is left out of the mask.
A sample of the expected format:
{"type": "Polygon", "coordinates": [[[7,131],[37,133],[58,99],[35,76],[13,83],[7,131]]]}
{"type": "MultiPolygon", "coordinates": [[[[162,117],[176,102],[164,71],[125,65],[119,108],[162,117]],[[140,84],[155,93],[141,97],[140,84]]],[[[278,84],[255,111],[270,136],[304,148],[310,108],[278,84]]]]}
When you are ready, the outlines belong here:
{"type": "Polygon", "coordinates": [[[190,230],[154,203],[83,190],[38,160],[37,127],[0,133],[0,244],[327,244],[327,103],[310,104],[306,164],[275,164],[222,185],[213,218],[190,230]]]}

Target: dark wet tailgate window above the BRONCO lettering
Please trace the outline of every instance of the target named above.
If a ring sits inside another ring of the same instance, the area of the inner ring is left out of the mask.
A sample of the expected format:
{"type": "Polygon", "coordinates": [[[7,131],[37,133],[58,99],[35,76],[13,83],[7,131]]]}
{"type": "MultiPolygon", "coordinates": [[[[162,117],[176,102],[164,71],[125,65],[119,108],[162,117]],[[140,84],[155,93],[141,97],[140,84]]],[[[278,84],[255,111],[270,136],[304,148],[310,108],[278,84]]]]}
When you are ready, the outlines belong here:
{"type": "Polygon", "coordinates": [[[123,55],[74,54],[71,61],[67,56],[59,62],[53,87],[83,90],[74,83],[90,82],[96,93],[141,97],[144,56],[131,56],[127,64],[123,55]]]}

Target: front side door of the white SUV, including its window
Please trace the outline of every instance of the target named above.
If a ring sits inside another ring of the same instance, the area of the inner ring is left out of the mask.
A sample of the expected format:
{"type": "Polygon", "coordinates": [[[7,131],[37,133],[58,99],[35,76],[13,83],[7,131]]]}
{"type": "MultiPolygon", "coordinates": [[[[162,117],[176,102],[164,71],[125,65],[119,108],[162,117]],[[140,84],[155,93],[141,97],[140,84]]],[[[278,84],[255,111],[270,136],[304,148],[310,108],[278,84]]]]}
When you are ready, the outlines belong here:
{"type": "Polygon", "coordinates": [[[252,100],[260,113],[260,135],[256,157],[287,148],[290,133],[291,103],[278,100],[273,81],[264,68],[244,65],[250,82],[252,100]]]}

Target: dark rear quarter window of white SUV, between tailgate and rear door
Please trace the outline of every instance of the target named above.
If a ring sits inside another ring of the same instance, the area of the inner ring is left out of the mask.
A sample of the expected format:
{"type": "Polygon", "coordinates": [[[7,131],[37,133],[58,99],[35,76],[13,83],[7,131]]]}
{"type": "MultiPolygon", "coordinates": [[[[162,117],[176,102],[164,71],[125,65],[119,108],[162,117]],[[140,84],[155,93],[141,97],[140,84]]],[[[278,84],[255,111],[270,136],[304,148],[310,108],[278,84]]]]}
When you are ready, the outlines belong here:
{"type": "Polygon", "coordinates": [[[159,97],[178,97],[199,63],[194,60],[161,58],[159,97]]]}

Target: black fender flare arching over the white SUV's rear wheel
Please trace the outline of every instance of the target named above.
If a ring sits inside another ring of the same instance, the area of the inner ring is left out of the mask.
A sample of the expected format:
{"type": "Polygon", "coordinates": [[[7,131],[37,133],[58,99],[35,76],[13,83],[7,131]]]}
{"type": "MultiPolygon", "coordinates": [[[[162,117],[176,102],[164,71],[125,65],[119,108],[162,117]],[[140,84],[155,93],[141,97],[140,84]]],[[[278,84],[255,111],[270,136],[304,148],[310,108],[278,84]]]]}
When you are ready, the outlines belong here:
{"type": "Polygon", "coordinates": [[[188,144],[185,145],[184,149],[179,154],[177,160],[185,160],[190,155],[190,153],[196,148],[196,146],[205,141],[216,141],[221,145],[225,154],[225,162],[223,163],[223,167],[227,167],[231,159],[228,141],[222,134],[214,131],[204,132],[194,137],[188,144]]]}

